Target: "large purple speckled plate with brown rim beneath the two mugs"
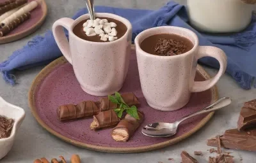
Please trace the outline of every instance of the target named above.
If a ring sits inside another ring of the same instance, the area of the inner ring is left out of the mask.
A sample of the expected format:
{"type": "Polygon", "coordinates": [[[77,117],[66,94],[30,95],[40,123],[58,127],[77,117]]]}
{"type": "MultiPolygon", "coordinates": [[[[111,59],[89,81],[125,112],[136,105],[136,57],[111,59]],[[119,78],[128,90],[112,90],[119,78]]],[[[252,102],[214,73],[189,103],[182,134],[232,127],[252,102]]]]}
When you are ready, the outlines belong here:
{"type": "MultiPolygon", "coordinates": [[[[196,81],[210,78],[204,69],[198,66],[196,81]]],[[[120,93],[133,92],[141,103],[140,110],[145,113],[145,121],[126,143],[114,141],[111,129],[91,131],[92,118],[74,122],[60,122],[56,109],[63,104],[77,104],[81,101],[97,101],[100,97],[90,96],[83,92],[76,80],[71,64],[64,57],[54,60],[36,76],[29,90],[29,105],[37,122],[47,131],[72,145],[81,146],[90,150],[113,153],[135,153],[156,150],[164,146],[173,145],[188,138],[203,127],[212,117],[213,113],[200,115],[184,122],[177,134],[171,138],[150,138],[141,133],[144,125],[152,122],[174,122],[190,113],[201,110],[218,99],[216,87],[205,92],[195,93],[184,108],[163,112],[148,106],[140,87],[138,66],[135,50],[132,48],[129,73],[120,93]]]]}

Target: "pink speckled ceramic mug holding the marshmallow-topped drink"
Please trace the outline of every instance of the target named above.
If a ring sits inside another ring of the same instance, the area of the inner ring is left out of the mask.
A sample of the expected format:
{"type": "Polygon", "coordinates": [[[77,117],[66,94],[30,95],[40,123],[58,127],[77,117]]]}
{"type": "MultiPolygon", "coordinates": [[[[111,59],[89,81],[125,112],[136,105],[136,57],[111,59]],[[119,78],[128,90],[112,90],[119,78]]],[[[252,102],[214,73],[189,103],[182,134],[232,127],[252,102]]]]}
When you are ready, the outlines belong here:
{"type": "Polygon", "coordinates": [[[131,53],[132,25],[129,20],[111,13],[96,13],[96,17],[115,18],[127,27],[122,38],[111,42],[92,42],[77,37],[73,28],[89,15],[73,20],[60,18],[53,24],[53,34],[61,52],[72,64],[77,81],[84,92],[107,96],[120,90],[127,75],[131,53]],[[69,44],[62,27],[68,30],[69,44]]]}

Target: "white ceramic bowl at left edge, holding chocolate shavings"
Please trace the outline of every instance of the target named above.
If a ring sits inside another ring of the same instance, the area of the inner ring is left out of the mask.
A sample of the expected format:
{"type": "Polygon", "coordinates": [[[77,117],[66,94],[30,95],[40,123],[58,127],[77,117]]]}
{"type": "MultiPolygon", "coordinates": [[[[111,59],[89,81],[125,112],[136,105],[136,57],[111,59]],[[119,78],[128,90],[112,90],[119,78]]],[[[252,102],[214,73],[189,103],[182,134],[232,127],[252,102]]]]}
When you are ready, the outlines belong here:
{"type": "Polygon", "coordinates": [[[7,103],[0,97],[0,115],[14,120],[12,133],[9,138],[0,139],[0,160],[11,150],[17,130],[25,118],[25,111],[13,104],[7,103]]]}

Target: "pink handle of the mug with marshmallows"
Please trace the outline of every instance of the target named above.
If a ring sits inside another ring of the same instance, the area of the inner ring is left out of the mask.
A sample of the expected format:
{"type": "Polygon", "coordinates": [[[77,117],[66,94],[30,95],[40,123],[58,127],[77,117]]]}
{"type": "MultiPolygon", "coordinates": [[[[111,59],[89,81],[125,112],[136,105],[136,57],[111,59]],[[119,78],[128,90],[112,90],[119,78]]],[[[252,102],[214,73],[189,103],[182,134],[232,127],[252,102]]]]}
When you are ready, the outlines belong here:
{"type": "Polygon", "coordinates": [[[63,27],[68,31],[71,30],[71,25],[74,23],[72,18],[60,18],[52,25],[52,32],[55,38],[57,45],[60,48],[61,53],[63,53],[64,57],[72,64],[72,57],[70,52],[70,47],[68,40],[65,36],[65,32],[63,27]]]}

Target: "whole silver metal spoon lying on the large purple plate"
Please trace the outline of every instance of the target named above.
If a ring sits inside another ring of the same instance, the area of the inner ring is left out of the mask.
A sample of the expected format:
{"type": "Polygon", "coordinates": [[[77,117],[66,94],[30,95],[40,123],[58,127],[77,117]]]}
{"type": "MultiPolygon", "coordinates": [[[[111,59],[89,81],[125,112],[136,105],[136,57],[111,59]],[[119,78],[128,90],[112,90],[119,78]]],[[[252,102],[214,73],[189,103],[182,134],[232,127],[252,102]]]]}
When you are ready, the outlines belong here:
{"type": "Polygon", "coordinates": [[[176,134],[179,124],[184,120],[195,117],[196,115],[201,115],[204,113],[220,110],[221,108],[228,106],[230,103],[231,103],[231,99],[229,97],[223,97],[218,101],[216,101],[215,103],[212,103],[210,106],[204,108],[204,110],[200,110],[195,113],[192,113],[191,115],[187,115],[186,117],[183,117],[182,120],[178,120],[173,123],[157,122],[154,124],[149,124],[143,127],[141,132],[146,136],[150,136],[150,137],[173,136],[176,134]]]}

